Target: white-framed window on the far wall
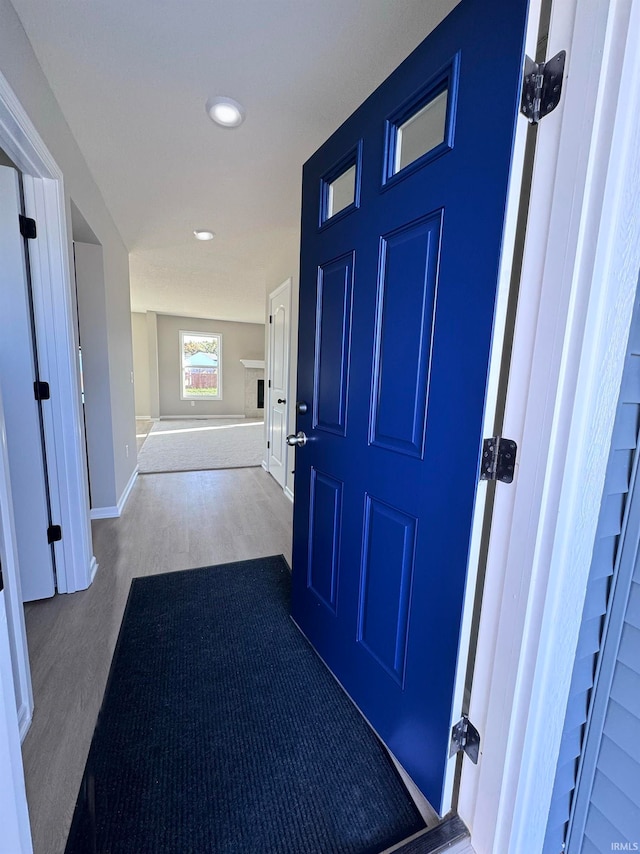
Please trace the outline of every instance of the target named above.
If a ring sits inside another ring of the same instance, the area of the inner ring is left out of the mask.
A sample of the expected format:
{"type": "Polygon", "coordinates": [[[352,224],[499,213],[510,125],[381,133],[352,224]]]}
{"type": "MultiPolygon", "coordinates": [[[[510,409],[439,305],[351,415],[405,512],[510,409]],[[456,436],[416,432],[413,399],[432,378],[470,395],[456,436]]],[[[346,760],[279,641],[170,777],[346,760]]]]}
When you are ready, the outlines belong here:
{"type": "Polygon", "coordinates": [[[222,399],[222,336],[180,332],[182,400],[222,399]]]}

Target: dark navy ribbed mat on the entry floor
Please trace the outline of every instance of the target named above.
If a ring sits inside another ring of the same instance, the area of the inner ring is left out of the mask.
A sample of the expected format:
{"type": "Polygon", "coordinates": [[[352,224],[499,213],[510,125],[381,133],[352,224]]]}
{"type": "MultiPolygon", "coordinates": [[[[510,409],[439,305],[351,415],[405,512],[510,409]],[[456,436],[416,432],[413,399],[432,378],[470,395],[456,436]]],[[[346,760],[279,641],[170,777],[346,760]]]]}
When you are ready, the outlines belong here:
{"type": "Polygon", "coordinates": [[[132,582],[66,854],[377,854],[424,828],[282,556],[132,582]]]}

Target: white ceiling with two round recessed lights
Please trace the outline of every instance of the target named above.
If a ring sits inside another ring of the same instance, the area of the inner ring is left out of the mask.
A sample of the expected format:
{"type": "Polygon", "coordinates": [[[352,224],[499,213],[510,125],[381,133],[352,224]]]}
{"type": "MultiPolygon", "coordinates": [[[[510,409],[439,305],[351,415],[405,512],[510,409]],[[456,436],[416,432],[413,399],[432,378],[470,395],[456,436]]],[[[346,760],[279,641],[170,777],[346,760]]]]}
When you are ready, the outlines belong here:
{"type": "Polygon", "coordinates": [[[457,1],[12,0],[130,250],[132,309],[263,322],[302,164],[457,1]],[[210,95],[245,123],[214,125],[210,95]]]}

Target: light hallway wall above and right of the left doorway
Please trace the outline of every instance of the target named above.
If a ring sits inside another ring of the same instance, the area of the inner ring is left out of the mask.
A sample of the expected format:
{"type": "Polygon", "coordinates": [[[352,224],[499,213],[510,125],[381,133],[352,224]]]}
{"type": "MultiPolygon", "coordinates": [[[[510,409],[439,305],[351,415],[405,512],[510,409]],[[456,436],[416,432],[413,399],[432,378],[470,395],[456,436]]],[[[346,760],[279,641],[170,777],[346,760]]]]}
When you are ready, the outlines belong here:
{"type": "MultiPolygon", "coordinates": [[[[9,0],[0,0],[0,71],[64,174],[69,238],[73,199],[102,245],[109,353],[103,393],[110,401],[115,491],[121,495],[135,465],[135,454],[127,458],[125,450],[135,447],[128,252],[9,0]]],[[[71,239],[69,262],[73,269],[71,239]]]]}

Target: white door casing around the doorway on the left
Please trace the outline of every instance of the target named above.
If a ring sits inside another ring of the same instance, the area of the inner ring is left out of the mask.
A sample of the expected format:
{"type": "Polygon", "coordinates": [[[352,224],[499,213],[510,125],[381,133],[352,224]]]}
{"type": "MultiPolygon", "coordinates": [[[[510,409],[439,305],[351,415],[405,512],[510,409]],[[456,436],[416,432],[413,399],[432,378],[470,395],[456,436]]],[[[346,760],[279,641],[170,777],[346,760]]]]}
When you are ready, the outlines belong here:
{"type": "MultiPolygon", "coordinates": [[[[67,203],[62,172],[2,74],[0,146],[22,172],[25,213],[36,219],[38,228],[38,239],[30,241],[29,258],[40,375],[49,381],[52,389],[50,406],[45,410],[44,432],[49,450],[52,514],[63,531],[63,539],[55,545],[57,580],[59,591],[72,592],[91,583],[97,564],[91,551],[81,432],[67,203]]],[[[30,854],[31,831],[20,736],[24,738],[28,730],[33,698],[1,405],[0,445],[0,520],[5,547],[4,552],[0,551],[5,582],[0,595],[7,617],[3,628],[8,627],[9,635],[9,643],[3,643],[0,629],[0,779],[7,781],[0,798],[0,821],[3,838],[5,828],[9,828],[6,834],[12,834],[8,837],[11,854],[30,854]],[[16,706],[19,731],[11,723],[16,706]]]]}

